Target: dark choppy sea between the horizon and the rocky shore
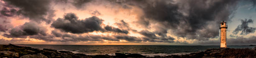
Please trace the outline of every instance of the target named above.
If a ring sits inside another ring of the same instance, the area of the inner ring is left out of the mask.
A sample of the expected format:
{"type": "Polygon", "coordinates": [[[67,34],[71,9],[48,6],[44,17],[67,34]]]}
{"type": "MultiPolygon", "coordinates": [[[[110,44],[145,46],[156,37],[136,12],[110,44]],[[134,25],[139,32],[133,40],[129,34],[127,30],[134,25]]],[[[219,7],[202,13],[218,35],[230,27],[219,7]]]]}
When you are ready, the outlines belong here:
{"type": "MultiPolygon", "coordinates": [[[[15,44],[29,46],[36,49],[55,49],[58,51],[71,51],[86,55],[115,55],[115,53],[138,53],[143,56],[184,55],[206,49],[218,49],[220,46],[176,46],[176,45],[41,45],[41,44],[15,44]]],[[[227,46],[235,49],[252,49],[256,46],[227,46]]]]}

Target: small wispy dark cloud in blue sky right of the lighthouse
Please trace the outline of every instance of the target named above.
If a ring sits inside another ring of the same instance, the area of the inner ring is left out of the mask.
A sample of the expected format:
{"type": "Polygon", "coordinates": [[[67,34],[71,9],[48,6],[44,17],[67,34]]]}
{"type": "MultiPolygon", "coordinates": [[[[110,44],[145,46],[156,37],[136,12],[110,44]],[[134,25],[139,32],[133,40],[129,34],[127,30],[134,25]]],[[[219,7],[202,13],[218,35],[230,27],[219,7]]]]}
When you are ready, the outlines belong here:
{"type": "Polygon", "coordinates": [[[233,34],[237,35],[239,31],[242,31],[240,35],[247,35],[255,32],[256,28],[248,26],[248,23],[253,23],[252,19],[241,20],[241,23],[242,24],[238,25],[237,28],[232,32],[233,34]]]}

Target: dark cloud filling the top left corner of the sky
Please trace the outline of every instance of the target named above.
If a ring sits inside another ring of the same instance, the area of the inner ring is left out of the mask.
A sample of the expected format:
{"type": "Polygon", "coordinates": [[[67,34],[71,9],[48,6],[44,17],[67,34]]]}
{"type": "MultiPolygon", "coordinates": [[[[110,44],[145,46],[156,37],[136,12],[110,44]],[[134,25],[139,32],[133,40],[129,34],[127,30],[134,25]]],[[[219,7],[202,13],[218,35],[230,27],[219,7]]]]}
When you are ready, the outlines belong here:
{"type": "MultiPolygon", "coordinates": [[[[37,22],[46,21],[50,23],[52,19],[46,19],[44,16],[47,14],[52,14],[52,9],[50,8],[51,0],[4,0],[9,5],[14,5],[18,7],[18,14],[22,14],[30,18],[30,20],[34,20],[37,22]]],[[[52,15],[50,15],[52,16],[52,15]]]]}

